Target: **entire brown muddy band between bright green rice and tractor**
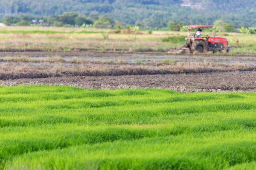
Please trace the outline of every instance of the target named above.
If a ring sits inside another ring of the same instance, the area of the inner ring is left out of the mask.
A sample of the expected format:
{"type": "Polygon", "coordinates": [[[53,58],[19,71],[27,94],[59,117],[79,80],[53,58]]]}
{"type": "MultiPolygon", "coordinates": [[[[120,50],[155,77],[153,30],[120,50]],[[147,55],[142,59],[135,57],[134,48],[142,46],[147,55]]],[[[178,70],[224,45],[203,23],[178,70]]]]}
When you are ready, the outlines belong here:
{"type": "Polygon", "coordinates": [[[0,85],[180,92],[256,91],[256,57],[111,53],[0,53],[0,85]]]}

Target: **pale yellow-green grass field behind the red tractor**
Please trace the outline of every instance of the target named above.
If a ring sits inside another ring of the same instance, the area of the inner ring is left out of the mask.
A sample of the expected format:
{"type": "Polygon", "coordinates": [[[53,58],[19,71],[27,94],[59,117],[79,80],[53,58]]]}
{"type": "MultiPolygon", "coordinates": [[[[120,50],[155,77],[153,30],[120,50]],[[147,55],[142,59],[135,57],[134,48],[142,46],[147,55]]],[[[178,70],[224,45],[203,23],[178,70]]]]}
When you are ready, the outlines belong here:
{"type": "MultiPolygon", "coordinates": [[[[99,51],[99,52],[137,52],[166,53],[172,47],[184,44],[187,32],[140,31],[143,34],[108,34],[113,30],[93,28],[57,27],[7,27],[0,28],[0,51],[99,51]]],[[[204,32],[203,37],[211,35],[204,32]]],[[[239,48],[225,55],[256,55],[256,35],[239,33],[218,33],[226,37],[230,46],[239,48]]]]}

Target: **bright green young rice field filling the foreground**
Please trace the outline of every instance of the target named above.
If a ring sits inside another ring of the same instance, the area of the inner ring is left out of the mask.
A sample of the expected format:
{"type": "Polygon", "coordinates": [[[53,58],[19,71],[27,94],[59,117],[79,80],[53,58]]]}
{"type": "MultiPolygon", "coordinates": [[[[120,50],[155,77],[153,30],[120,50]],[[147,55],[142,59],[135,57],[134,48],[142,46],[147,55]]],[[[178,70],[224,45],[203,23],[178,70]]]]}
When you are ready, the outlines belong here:
{"type": "Polygon", "coordinates": [[[255,170],[256,94],[0,87],[1,170],[255,170]]]}

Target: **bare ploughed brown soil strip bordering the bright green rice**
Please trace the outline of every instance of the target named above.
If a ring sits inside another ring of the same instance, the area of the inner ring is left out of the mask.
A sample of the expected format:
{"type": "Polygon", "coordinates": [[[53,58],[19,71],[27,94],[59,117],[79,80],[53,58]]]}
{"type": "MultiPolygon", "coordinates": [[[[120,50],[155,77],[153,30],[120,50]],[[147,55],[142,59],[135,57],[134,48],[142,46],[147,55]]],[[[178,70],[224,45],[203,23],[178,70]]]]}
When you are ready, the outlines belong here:
{"type": "Polygon", "coordinates": [[[163,88],[180,92],[255,91],[255,73],[49,77],[0,81],[0,85],[69,85],[86,89],[163,88]]]}

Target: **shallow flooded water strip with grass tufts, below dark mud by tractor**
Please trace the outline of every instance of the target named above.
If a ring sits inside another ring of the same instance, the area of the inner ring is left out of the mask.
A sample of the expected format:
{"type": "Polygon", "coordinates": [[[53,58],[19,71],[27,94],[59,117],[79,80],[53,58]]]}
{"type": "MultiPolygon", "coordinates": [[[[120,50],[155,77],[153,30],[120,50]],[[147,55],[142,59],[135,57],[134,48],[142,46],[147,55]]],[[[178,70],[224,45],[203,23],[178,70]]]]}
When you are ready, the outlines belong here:
{"type": "MultiPolygon", "coordinates": [[[[11,59],[31,59],[31,60],[41,60],[41,61],[50,61],[50,60],[60,60],[61,62],[115,62],[115,63],[147,63],[154,65],[156,62],[186,62],[186,63],[212,63],[212,64],[221,64],[221,65],[256,65],[256,57],[236,57],[236,56],[188,56],[188,55],[148,55],[148,54],[120,54],[113,55],[102,54],[102,55],[85,55],[85,56],[72,56],[72,57],[9,57],[4,56],[0,59],[11,60],[11,59]]],[[[38,65],[38,63],[36,63],[38,65]]],[[[40,63],[39,63],[40,65],[40,63]]]]}

